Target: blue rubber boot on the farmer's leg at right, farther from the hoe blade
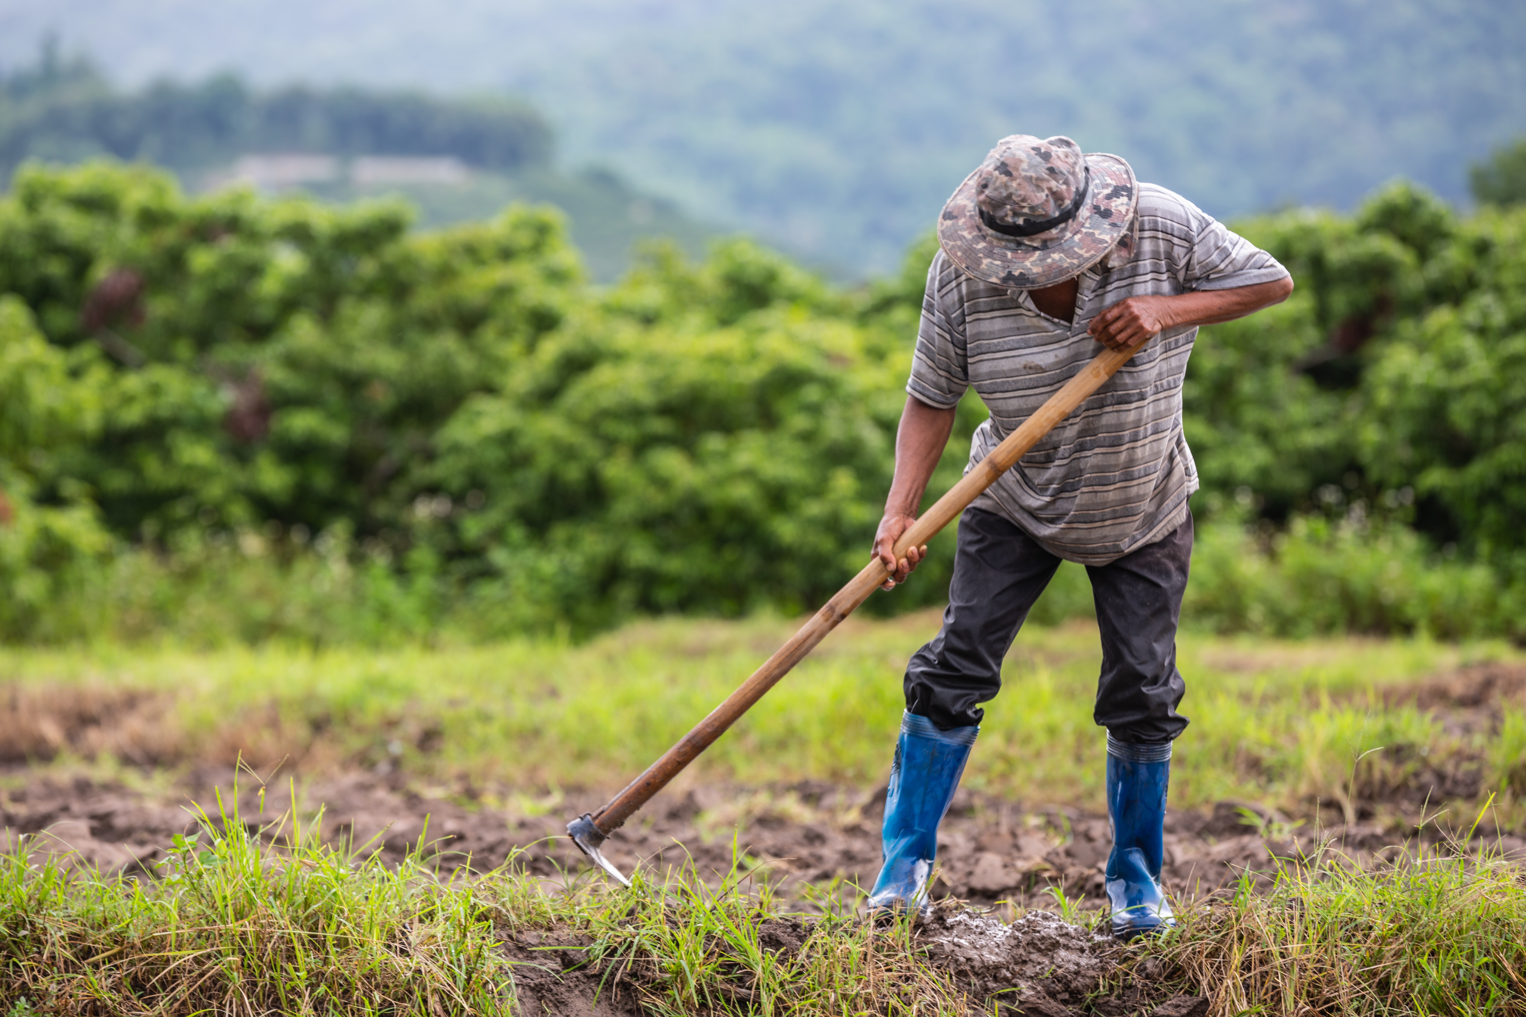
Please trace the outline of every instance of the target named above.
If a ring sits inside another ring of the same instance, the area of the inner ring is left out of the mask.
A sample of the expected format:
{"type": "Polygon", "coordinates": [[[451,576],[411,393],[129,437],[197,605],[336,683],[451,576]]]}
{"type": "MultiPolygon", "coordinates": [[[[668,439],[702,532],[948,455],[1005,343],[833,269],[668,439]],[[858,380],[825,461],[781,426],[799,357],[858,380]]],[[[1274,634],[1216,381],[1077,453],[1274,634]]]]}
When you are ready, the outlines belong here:
{"type": "Polygon", "coordinates": [[[1177,924],[1160,886],[1170,743],[1131,744],[1108,735],[1108,819],[1112,854],[1106,887],[1112,935],[1132,939],[1177,924]]]}

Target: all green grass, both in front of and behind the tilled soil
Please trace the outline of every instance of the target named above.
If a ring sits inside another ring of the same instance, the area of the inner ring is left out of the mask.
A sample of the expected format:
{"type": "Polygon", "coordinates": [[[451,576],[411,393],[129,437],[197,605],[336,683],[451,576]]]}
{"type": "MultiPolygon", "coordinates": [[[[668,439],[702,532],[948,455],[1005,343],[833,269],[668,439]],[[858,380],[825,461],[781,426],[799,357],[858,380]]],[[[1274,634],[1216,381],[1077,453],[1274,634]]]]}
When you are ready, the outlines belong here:
{"type": "MultiPolygon", "coordinates": [[[[684,779],[881,781],[900,669],[935,625],[932,613],[850,621],[684,779]]],[[[38,755],[58,750],[55,759],[78,765],[89,746],[69,741],[64,721],[95,711],[124,718],[116,741],[104,752],[95,744],[93,764],[114,759],[122,773],[140,773],[130,761],[150,756],[162,773],[240,753],[255,765],[293,756],[313,768],[391,759],[421,781],[470,775],[488,797],[555,808],[557,788],[629,779],[790,628],[662,621],[584,645],[395,651],[5,650],[0,717],[11,730],[0,735],[52,746],[38,755]]],[[[1418,759],[1456,756],[1503,788],[1494,816],[1518,822],[1526,717],[1506,712],[1494,733],[1457,733],[1386,698],[1468,662],[1515,659],[1503,645],[1184,634],[1180,656],[1193,726],[1178,743],[1177,807],[1351,800],[1392,788],[1418,759]]],[[[1088,624],[1024,631],[969,782],[1100,810],[1102,733],[1090,720],[1097,662],[1088,624]]],[[[1476,813],[1451,805],[1466,826],[1476,813]]],[[[444,877],[421,857],[392,868],[346,855],[314,829],[288,823],[256,839],[214,810],[197,840],[174,846],[159,883],[98,878],[41,854],[0,858],[0,1008],[18,1017],[514,1012],[526,979],[566,964],[566,950],[546,942],[572,944],[594,973],[584,988],[621,979],[656,1014],[981,1005],[961,999],[905,929],[862,924],[841,887],[819,887],[807,944],[786,956],[761,948],[761,922],[786,904],[758,881],[717,887],[670,871],[644,872],[630,890],[589,877],[548,886],[513,858],[444,877]]],[[[1376,871],[1320,858],[1286,863],[1270,890],[1247,883],[1233,900],[1183,903],[1181,930],[1122,954],[1116,982],[1154,958],[1170,991],[1212,993],[1216,1017],[1523,1011],[1517,869],[1445,849],[1376,871]]]]}

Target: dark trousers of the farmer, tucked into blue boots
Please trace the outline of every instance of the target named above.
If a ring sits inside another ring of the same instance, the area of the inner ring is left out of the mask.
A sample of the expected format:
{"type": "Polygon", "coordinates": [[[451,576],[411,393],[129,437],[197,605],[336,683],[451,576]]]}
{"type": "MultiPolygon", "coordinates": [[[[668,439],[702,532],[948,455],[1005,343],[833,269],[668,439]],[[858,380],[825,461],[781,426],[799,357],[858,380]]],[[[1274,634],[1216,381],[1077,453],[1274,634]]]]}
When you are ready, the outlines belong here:
{"type": "MultiPolygon", "coordinates": [[[[1187,589],[1192,515],[1154,544],[1087,566],[1102,630],[1097,724],[1117,741],[1170,741],[1187,727],[1177,621],[1187,589]]],[[[943,628],[906,665],[906,711],[938,729],[978,724],[1001,691],[1001,659],[1061,560],[1015,523],[966,509],[943,628]]],[[[1021,709],[1021,707],[1019,707],[1021,709]]]]}

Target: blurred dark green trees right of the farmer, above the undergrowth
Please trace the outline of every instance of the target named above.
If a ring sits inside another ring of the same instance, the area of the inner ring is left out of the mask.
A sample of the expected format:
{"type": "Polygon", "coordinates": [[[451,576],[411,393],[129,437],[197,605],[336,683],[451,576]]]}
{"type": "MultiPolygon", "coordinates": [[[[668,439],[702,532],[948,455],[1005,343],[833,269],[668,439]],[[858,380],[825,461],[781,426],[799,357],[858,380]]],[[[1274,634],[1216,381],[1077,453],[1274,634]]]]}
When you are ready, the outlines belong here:
{"type": "Polygon", "coordinates": [[[1395,183],[1349,218],[1242,229],[1299,288],[1198,342],[1184,415],[1204,489],[1277,520],[1360,500],[1437,544],[1526,547],[1526,213],[1462,220],[1395,183]]]}

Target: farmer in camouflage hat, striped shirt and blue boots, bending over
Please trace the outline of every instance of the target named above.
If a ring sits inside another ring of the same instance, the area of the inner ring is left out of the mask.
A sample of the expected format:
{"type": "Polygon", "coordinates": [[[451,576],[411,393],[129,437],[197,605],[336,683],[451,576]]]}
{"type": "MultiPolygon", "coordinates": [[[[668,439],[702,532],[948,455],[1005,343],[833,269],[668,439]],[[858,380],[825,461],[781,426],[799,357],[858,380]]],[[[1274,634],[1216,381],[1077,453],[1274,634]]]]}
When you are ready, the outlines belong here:
{"type": "MultiPolygon", "coordinates": [[[[1181,432],[1181,381],[1198,326],[1293,291],[1270,255],[1117,156],[1068,137],[1004,137],[938,221],[922,326],[896,436],[896,477],[874,553],[906,579],[896,538],[954,427],[964,389],[990,419],[971,464],[1096,355],[1138,348],[1106,384],[964,511],[943,628],[906,665],[906,712],[885,800],[873,909],[922,907],[937,829],[1001,659],[1061,560],[1087,566],[1102,675],[1093,717],[1108,729],[1112,852],[1106,890],[1122,938],[1175,922],[1160,886],[1170,744],[1186,729],[1177,619],[1192,553],[1198,473],[1181,432]]],[[[1019,704],[1021,709],[1021,704],[1019,704]]]]}

